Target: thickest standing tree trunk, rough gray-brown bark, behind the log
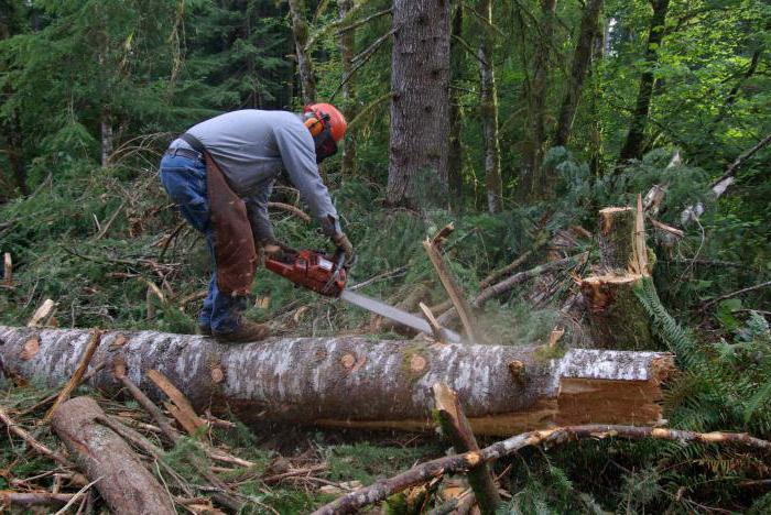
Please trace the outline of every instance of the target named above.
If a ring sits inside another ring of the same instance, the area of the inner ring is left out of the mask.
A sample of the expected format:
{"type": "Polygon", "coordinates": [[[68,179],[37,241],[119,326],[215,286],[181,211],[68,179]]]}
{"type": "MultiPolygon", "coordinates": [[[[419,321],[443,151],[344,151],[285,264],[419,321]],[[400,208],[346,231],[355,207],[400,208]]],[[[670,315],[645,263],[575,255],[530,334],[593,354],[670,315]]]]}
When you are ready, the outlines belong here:
{"type": "Polygon", "coordinates": [[[447,202],[449,1],[394,0],[388,202],[447,202]]]}

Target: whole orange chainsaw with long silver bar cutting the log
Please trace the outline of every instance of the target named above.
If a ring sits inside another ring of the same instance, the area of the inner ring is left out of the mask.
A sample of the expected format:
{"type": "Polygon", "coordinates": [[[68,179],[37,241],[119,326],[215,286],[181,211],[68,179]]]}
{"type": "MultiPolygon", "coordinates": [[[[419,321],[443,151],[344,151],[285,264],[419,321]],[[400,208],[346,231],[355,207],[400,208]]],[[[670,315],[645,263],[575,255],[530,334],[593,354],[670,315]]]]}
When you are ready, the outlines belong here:
{"type": "MultiPolygon", "coordinates": [[[[433,333],[431,325],[426,320],[374,298],[346,289],[348,276],[343,266],[344,263],[345,254],[339,250],[334,255],[329,255],[322,251],[295,251],[283,248],[281,252],[265,256],[265,269],[290,280],[297,286],[326,297],[340,298],[354,306],[367,309],[426,335],[433,333]]],[[[463,341],[457,332],[445,328],[441,330],[446,341],[453,343],[463,341]]]]}

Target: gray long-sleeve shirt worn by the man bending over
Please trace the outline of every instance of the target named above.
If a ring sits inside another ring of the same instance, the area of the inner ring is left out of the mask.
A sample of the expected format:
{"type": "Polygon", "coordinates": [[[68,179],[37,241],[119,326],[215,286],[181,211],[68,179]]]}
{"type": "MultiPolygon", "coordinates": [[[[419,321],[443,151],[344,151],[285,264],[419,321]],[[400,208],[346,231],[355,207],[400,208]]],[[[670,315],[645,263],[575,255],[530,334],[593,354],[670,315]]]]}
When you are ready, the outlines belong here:
{"type": "MultiPolygon", "coordinates": [[[[273,239],[268,198],[282,169],[324,232],[340,232],[337,210],[318,175],[313,136],[297,114],[245,109],[203,121],[187,132],[206,146],[230,187],[247,204],[257,239],[273,239]]],[[[178,139],[170,145],[178,147],[191,146],[178,139]]]]}

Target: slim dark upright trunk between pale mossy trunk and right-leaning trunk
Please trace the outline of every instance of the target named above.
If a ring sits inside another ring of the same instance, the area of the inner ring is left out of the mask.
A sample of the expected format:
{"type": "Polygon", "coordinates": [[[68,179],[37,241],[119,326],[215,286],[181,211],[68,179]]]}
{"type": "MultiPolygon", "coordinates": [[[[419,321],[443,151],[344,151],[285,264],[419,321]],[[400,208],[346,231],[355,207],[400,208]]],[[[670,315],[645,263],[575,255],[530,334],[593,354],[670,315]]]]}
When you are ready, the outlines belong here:
{"type": "Polygon", "coordinates": [[[549,94],[549,59],[554,33],[556,0],[541,0],[541,32],[535,45],[534,73],[530,99],[530,141],[526,147],[525,176],[523,186],[526,197],[539,198],[546,191],[542,168],[546,141],[546,96],[549,94]]]}

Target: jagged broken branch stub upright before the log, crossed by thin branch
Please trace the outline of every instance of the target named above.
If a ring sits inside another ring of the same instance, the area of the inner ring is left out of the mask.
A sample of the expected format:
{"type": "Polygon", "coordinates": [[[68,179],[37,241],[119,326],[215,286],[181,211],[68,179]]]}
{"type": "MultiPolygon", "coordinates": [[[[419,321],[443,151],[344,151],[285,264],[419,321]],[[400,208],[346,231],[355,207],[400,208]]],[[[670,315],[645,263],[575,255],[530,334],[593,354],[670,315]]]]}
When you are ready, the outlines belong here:
{"type": "MultiPolygon", "coordinates": [[[[445,383],[436,383],[432,390],[442,432],[453,443],[455,452],[478,451],[479,445],[460,406],[458,394],[445,383]]],[[[468,471],[468,483],[474,490],[482,515],[495,514],[501,505],[501,498],[486,462],[468,471]]]]}

